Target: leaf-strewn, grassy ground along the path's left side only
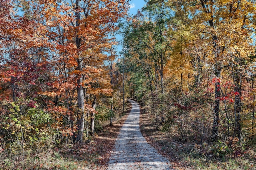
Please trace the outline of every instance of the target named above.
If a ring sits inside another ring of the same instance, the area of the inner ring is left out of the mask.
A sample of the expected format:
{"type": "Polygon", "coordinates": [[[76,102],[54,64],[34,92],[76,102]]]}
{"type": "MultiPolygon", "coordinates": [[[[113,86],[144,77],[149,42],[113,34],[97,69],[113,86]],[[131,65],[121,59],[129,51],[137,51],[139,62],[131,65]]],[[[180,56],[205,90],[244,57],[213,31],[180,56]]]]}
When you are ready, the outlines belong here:
{"type": "Polygon", "coordinates": [[[115,140],[131,108],[131,104],[127,102],[124,115],[116,117],[111,127],[103,126],[95,136],[83,140],[82,144],[63,144],[58,148],[49,148],[36,156],[28,156],[23,163],[0,155],[0,170],[106,170],[115,140]]]}

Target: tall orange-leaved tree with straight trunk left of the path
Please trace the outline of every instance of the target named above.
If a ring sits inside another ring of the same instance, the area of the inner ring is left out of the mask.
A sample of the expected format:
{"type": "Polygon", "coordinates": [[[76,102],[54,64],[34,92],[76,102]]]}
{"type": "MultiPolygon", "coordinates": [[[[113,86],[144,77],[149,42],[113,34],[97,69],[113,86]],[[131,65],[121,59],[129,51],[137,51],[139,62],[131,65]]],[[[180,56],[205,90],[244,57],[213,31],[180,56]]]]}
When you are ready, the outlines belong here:
{"type": "MultiPolygon", "coordinates": [[[[88,77],[88,73],[97,69],[98,66],[103,64],[104,59],[107,58],[103,52],[110,48],[112,44],[108,38],[108,33],[117,29],[114,23],[116,23],[119,18],[124,17],[128,5],[124,0],[111,2],[100,0],[82,2],[76,0],[70,4],[72,6],[70,6],[68,2],[64,2],[62,5],[54,2],[48,4],[47,9],[52,10],[51,7],[55,6],[56,10],[52,11],[55,13],[55,17],[60,21],[65,19],[60,29],[61,31],[58,32],[58,34],[60,34],[60,36],[65,35],[64,38],[66,40],[64,45],[59,45],[57,51],[59,51],[58,55],[60,59],[62,56],[68,57],[68,63],[64,64],[67,65],[68,68],[64,68],[64,72],[70,74],[70,77],[72,77],[72,75],[76,76],[78,103],[76,125],[78,131],[75,135],[75,140],[81,142],[84,130],[84,95],[90,81],[93,81],[91,77],[88,77]],[[63,9],[64,14],[61,14],[58,9],[63,9]],[[63,51],[63,48],[65,51],[63,51]],[[97,62],[96,65],[94,65],[95,62],[97,62]],[[90,65],[93,66],[90,67],[90,65]],[[68,69],[68,71],[66,71],[66,69],[68,69]]],[[[54,22],[53,19],[54,18],[49,18],[46,22],[54,22]]],[[[57,26],[58,23],[53,25],[55,28],[57,28],[57,26]]],[[[56,32],[51,32],[49,36],[52,34],[56,34],[56,32]]]]}

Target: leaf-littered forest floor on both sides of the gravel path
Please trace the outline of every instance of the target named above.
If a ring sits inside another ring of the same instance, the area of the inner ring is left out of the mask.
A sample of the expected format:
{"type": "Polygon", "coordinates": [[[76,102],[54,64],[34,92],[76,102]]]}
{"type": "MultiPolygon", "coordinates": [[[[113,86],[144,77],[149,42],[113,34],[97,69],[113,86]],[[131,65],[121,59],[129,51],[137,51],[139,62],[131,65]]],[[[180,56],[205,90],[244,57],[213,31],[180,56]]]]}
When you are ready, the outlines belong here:
{"type": "MultiPolygon", "coordinates": [[[[36,156],[28,157],[23,164],[18,159],[11,160],[9,157],[1,157],[0,169],[106,170],[116,138],[131,108],[131,104],[127,102],[125,114],[116,118],[112,127],[104,126],[103,130],[98,131],[94,137],[84,140],[79,147],[49,148],[48,151],[45,150],[36,156]]],[[[162,156],[170,160],[173,169],[256,170],[256,148],[248,146],[238,156],[225,155],[220,157],[214,153],[209,154],[208,151],[212,148],[212,144],[202,148],[202,146],[192,142],[176,141],[168,133],[156,129],[146,110],[143,107],[140,109],[142,135],[162,156]]]]}

